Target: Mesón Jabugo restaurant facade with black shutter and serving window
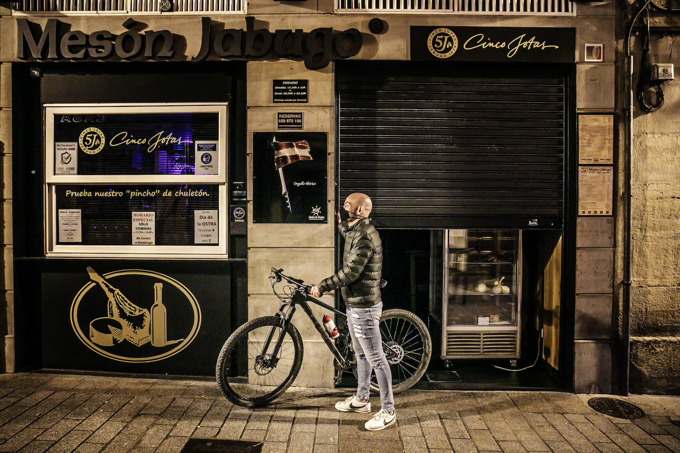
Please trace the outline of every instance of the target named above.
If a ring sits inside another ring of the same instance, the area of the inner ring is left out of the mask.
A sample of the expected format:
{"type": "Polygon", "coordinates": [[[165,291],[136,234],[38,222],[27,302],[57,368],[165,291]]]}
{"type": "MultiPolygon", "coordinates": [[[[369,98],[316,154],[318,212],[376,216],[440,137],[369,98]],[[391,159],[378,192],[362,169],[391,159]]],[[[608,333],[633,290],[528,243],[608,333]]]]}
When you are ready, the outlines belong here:
{"type": "Polygon", "coordinates": [[[364,192],[425,387],[626,391],[613,1],[109,3],[0,10],[7,372],[211,376],[364,192]]]}

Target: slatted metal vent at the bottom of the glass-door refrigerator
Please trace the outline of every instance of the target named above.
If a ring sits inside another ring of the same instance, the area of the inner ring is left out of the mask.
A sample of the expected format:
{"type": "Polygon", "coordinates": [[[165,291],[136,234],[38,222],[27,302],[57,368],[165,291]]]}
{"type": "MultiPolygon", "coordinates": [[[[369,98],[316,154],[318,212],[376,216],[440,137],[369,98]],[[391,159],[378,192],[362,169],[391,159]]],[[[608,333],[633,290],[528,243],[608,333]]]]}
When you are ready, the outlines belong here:
{"type": "Polygon", "coordinates": [[[449,332],[446,336],[449,357],[515,357],[517,331],[513,332],[449,332]]]}

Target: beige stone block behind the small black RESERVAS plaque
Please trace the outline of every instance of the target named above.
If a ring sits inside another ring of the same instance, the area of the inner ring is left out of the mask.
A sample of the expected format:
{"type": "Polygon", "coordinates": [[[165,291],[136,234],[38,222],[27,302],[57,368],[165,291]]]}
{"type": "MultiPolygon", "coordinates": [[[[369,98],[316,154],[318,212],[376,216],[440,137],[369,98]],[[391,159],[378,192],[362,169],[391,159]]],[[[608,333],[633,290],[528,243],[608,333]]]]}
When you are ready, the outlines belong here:
{"type": "MultiPolygon", "coordinates": [[[[281,132],[329,132],[335,128],[333,124],[335,109],[333,107],[307,107],[305,104],[279,104],[272,107],[250,107],[248,109],[248,134],[252,132],[277,131],[277,113],[302,112],[303,129],[280,130],[281,132]],[[300,107],[303,106],[303,107],[300,107]]],[[[252,136],[251,136],[252,138],[252,136]]],[[[328,137],[331,141],[332,137],[328,137]]],[[[252,141],[251,141],[252,143],[252,141]]],[[[328,143],[328,151],[333,151],[333,147],[328,143]]],[[[250,148],[249,148],[249,152],[250,148]]]]}

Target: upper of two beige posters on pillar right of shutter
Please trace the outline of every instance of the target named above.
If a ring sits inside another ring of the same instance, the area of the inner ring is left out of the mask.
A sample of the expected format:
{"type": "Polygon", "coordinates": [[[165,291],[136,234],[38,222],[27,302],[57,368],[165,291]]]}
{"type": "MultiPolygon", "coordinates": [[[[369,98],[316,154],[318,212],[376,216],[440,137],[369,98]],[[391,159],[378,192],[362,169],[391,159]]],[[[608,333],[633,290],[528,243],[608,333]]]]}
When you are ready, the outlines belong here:
{"type": "Polygon", "coordinates": [[[579,164],[613,164],[614,116],[579,115],[579,164]]]}

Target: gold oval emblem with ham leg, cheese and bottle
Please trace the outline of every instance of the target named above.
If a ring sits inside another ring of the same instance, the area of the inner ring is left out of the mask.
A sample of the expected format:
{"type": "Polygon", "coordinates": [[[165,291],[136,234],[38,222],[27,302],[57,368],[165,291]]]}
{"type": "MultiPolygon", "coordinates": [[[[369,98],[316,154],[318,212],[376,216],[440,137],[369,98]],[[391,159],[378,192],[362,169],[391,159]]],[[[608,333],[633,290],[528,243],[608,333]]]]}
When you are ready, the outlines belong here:
{"type": "Polygon", "coordinates": [[[71,327],[97,354],[121,362],[154,362],[196,338],[201,308],[179,281],[152,270],[87,271],[91,281],[71,303],[71,327]]]}

